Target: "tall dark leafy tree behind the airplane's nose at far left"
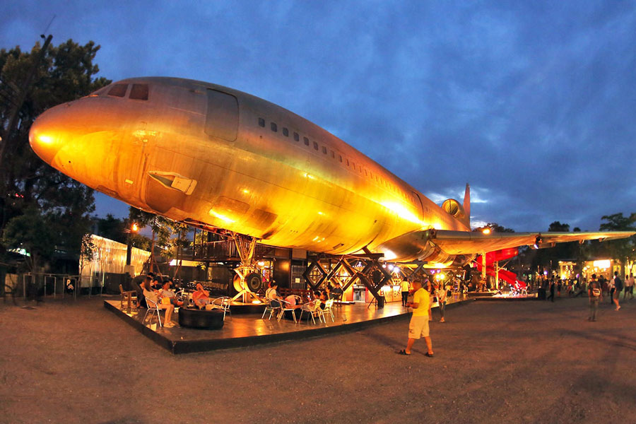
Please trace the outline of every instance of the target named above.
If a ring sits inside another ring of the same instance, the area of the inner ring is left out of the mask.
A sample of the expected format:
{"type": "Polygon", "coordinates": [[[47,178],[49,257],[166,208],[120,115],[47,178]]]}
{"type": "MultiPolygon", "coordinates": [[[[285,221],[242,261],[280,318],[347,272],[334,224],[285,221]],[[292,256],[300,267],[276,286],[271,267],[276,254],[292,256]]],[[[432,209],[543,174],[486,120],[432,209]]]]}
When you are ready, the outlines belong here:
{"type": "MultiPolygon", "coordinates": [[[[16,90],[40,54],[20,47],[0,50],[0,130],[5,158],[0,169],[0,252],[28,247],[30,266],[50,259],[56,251],[79,255],[82,237],[90,230],[95,208],[93,189],[66,177],[44,163],[28,144],[28,132],[37,115],[61,102],[75,100],[110,81],[95,78],[93,64],[99,50],[95,43],[78,45],[73,40],[49,47],[37,64],[33,84],[18,111],[18,124],[7,134],[8,117],[16,90]],[[37,228],[37,230],[34,230],[37,228]],[[40,231],[40,234],[35,232],[40,231]],[[46,237],[45,237],[46,235],[46,237]]],[[[20,96],[21,97],[21,96],[20,96]]]]}

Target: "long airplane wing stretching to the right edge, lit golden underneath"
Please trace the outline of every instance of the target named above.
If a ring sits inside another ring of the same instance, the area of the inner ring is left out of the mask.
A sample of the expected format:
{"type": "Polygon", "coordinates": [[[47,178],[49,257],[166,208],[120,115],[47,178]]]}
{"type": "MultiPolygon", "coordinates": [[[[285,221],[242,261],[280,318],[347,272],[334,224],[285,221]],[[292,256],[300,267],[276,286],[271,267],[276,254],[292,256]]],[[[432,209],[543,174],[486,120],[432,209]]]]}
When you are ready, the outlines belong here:
{"type": "Polygon", "coordinates": [[[607,232],[482,232],[419,230],[388,240],[377,247],[391,261],[423,260],[434,255],[473,255],[519,246],[551,247],[555,243],[611,240],[630,237],[633,231],[607,232]]]}

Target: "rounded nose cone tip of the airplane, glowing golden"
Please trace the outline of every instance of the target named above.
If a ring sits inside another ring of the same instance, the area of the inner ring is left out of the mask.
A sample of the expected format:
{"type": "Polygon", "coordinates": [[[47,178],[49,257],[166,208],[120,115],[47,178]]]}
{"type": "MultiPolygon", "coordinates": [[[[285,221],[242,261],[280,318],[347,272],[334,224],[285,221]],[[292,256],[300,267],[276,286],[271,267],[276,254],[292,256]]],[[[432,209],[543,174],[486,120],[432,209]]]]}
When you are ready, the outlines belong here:
{"type": "Polygon", "coordinates": [[[53,164],[55,156],[64,144],[61,111],[65,108],[66,105],[59,105],[42,113],[31,124],[29,131],[31,148],[49,165],[53,164]]]}

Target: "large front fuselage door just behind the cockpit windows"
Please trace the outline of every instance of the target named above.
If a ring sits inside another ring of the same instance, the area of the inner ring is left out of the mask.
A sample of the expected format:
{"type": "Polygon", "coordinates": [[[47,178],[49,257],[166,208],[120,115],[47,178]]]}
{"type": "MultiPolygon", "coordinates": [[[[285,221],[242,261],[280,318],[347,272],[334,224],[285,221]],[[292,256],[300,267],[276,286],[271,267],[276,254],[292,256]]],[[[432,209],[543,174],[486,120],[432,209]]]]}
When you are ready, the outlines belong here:
{"type": "Polygon", "coordinates": [[[233,95],[208,88],[206,134],[235,141],[238,134],[238,101],[233,95]]]}

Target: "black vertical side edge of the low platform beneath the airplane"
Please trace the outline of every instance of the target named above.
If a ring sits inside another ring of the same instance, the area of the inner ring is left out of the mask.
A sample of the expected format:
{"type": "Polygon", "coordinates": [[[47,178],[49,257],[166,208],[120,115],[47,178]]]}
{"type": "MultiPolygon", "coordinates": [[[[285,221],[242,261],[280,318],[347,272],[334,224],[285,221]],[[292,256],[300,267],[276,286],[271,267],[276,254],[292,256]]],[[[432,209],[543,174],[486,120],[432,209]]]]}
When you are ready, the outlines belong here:
{"type": "MultiPolygon", "coordinates": [[[[461,300],[459,302],[454,302],[449,305],[446,305],[447,308],[459,307],[464,304],[468,304],[472,302],[473,299],[461,300]]],[[[329,327],[314,327],[308,328],[302,331],[290,331],[289,333],[279,333],[279,334],[266,334],[264,336],[247,336],[247,337],[237,337],[237,338],[221,338],[215,340],[192,340],[192,341],[172,341],[169,338],[158,334],[156,331],[149,329],[147,326],[141,324],[141,322],[137,321],[133,317],[129,317],[128,314],[125,314],[117,307],[110,305],[107,301],[104,301],[104,306],[107,310],[114,312],[118,317],[127,322],[131,326],[134,327],[137,331],[141,332],[144,336],[150,338],[152,341],[157,343],[162,348],[165,348],[167,351],[174,355],[179,355],[182,353],[197,353],[197,352],[210,352],[210,351],[220,351],[225,349],[232,348],[245,348],[249,346],[258,346],[267,343],[278,343],[281,341],[295,341],[302,340],[305,338],[314,338],[320,336],[326,336],[329,334],[339,334],[346,333],[349,331],[358,331],[361,329],[366,329],[370,326],[378,325],[378,324],[386,324],[389,322],[397,321],[400,319],[410,319],[411,312],[406,312],[404,314],[391,315],[390,317],[380,317],[376,319],[369,319],[367,321],[360,322],[352,322],[350,324],[340,324],[329,327]]],[[[219,330],[223,331],[223,330],[219,330]]]]}

